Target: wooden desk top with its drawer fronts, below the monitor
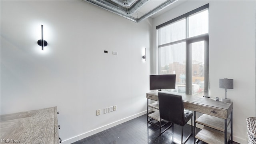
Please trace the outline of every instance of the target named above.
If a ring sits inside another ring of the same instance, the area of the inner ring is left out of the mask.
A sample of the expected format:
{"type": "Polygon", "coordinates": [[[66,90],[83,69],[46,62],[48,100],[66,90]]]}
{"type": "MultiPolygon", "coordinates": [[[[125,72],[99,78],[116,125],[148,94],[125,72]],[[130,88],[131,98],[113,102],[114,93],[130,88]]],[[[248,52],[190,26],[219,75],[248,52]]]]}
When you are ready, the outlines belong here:
{"type": "MultiPolygon", "coordinates": [[[[147,98],[158,101],[158,92],[163,91],[153,91],[147,93],[147,98]]],[[[170,92],[164,92],[170,93],[170,92]]],[[[177,93],[171,93],[177,94],[177,93]]],[[[204,98],[198,96],[191,96],[186,94],[178,94],[182,96],[184,108],[189,110],[194,110],[196,112],[201,112],[204,114],[209,114],[219,118],[227,119],[233,110],[233,102],[221,102],[216,101],[211,98],[204,98]]]]}

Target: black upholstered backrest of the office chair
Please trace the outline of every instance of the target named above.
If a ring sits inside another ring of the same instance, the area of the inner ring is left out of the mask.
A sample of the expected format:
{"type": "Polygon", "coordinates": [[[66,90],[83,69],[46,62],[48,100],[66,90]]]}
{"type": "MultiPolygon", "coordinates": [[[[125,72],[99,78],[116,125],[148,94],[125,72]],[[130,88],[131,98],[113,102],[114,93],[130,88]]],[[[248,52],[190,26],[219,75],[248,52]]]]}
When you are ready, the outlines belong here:
{"type": "Polygon", "coordinates": [[[184,126],[184,106],[181,95],[158,92],[158,101],[162,119],[184,126]]]}

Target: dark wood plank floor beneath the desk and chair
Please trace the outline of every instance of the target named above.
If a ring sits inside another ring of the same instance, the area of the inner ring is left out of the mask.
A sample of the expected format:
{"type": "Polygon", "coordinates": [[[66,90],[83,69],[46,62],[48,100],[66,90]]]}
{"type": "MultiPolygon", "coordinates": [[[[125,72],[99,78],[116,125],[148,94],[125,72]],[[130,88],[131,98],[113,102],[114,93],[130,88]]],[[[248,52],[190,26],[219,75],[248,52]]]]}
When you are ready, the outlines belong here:
{"type": "MultiPolygon", "coordinates": [[[[198,132],[200,129],[197,129],[198,132]]],[[[184,140],[191,131],[191,126],[184,126],[184,140]]],[[[173,125],[159,136],[159,128],[147,123],[147,115],[124,122],[73,144],[179,144],[181,126],[173,125]]],[[[193,136],[186,144],[193,144],[193,136]]],[[[198,144],[206,144],[199,141],[198,144]]],[[[238,144],[233,142],[233,144],[238,144]]]]}

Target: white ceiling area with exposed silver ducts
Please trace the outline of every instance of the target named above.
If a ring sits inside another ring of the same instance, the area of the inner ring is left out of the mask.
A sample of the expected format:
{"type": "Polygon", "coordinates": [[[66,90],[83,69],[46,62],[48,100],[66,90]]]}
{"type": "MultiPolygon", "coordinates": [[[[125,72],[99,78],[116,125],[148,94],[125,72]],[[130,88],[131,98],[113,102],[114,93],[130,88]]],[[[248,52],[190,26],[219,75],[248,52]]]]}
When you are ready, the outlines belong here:
{"type": "Polygon", "coordinates": [[[140,22],[178,6],[185,0],[85,0],[114,14],[140,22]]]}

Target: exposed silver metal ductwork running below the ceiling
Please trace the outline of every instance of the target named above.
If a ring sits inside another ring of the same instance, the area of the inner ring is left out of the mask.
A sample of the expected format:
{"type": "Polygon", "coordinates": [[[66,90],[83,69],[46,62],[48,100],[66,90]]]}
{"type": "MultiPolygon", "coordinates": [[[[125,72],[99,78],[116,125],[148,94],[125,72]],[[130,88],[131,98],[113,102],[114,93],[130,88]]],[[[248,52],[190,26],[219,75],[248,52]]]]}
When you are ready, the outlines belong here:
{"type": "Polygon", "coordinates": [[[130,5],[130,8],[124,8],[123,6],[122,7],[119,7],[119,6],[120,6],[120,4],[121,5],[124,5],[124,3],[127,4],[128,1],[130,3],[132,3],[132,2],[134,2],[134,0],[122,0],[122,3],[119,2],[119,4],[116,3],[116,1],[118,1],[118,0],[112,0],[113,2],[115,1],[115,3],[118,4],[119,6],[112,4],[109,1],[110,0],[86,0],[86,2],[94,4],[100,8],[108,10],[109,12],[117,14],[118,16],[122,16],[123,18],[131,20],[133,22],[140,22],[140,21],[156,14],[157,12],[163,10],[164,8],[170,6],[172,3],[174,3],[178,0],[166,0],[165,2],[163,2],[162,4],[160,4],[159,6],[154,8],[153,10],[150,10],[148,13],[141,16],[140,18],[134,18],[133,16],[131,16],[131,14],[138,11],[142,6],[144,6],[150,0],[137,0],[137,2],[130,5]]]}

